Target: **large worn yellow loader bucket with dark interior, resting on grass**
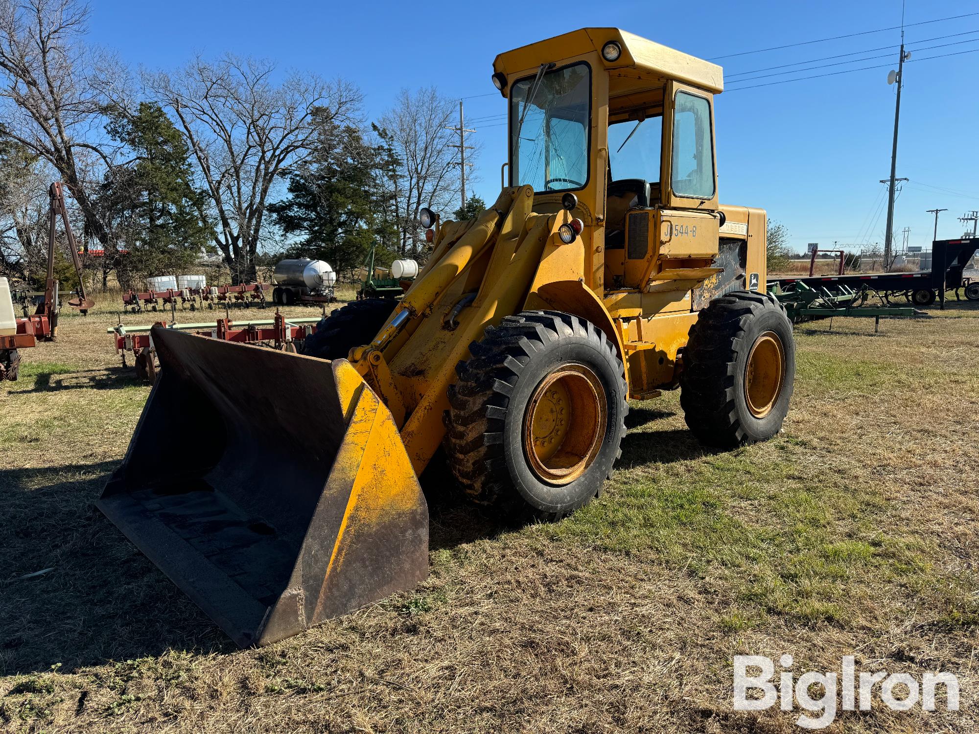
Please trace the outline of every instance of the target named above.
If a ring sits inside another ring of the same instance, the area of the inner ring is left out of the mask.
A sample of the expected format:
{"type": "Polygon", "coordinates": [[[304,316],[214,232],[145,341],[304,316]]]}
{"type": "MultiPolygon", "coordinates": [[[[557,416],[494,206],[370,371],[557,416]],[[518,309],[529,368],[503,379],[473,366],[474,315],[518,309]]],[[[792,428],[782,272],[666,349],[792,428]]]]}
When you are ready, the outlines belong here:
{"type": "Polygon", "coordinates": [[[347,360],[152,336],[160,377],[97,504],[238,645],[426,577],[421,487],[347,360]]]}

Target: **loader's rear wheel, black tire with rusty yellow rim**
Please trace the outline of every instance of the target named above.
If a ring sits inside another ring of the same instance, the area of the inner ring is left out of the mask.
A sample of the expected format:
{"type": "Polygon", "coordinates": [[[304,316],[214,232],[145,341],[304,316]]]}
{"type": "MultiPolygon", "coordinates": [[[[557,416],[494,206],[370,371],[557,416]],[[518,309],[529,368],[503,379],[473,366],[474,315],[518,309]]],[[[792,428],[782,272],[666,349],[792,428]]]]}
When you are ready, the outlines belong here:
{"type": "Polygon", "coordinates": [[[735,291],[690,327],[680,373],[686,425],[709,446],[732,448],[779,432],[795,380],[795,341],[773,296],[735,291]]]}

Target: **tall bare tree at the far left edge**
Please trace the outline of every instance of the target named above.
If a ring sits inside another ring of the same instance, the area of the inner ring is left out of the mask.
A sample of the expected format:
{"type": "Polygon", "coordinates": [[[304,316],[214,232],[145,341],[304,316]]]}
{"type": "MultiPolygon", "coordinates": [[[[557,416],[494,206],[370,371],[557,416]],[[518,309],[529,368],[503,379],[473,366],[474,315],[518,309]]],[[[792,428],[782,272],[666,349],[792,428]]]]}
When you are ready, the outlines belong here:
{"type": "Polygon", "coordinates": [[[54,167],[86,231],[106,245],[109,233],[89,190],[110,162],[97,145],[105,80],[115,84],[126,74],[81,42],[88,17],[78,0],[0,0],[0,137],[54,167]]]}

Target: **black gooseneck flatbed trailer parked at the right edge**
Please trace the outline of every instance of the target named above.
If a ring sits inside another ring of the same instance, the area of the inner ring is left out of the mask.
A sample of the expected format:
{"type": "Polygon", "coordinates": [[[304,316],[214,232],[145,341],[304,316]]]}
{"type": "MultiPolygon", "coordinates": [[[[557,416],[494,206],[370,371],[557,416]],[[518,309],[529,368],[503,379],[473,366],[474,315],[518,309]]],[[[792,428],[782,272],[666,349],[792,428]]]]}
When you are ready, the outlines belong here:
{"type": "MultiPolygon", "coordinates": [[[[769,291],[791,292],[799,285],[832,294],[872,292],[884,303],[904,296],[916,306],[931,305],[937,299],[945,307],[945,294],[965,289],[965,298],[979,300],[979,280],[964,275],[976,250],[979,238],[936,240],[932,243],[931,270],[911,273],[852,273],[850,275],[781,276],[768,279],[769,291]]],[[[872,315],[872,314],[869,314],[872,315]]]]}

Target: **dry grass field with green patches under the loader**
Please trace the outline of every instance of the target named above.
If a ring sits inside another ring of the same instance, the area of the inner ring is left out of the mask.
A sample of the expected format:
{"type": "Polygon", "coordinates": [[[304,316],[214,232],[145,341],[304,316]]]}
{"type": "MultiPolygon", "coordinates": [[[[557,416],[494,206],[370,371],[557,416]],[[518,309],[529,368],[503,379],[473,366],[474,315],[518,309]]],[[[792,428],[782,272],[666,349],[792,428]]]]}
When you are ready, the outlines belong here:
{"type": "Polygon", "coordinates": [[[614,479],[554,525],[500,527],[433,466],[429,579],[250,651],[93,505],[149,394],[116,318],[64,317],[0,387],[2,730],[775,734],[799,712],[733,711],[732,658],[782,653],[959,678],[959,711],[876,699],[828,731],[979,726],[977,303],[797,327],[765,444],[705,450],[676,393],[633,404],[614,479]]]}

